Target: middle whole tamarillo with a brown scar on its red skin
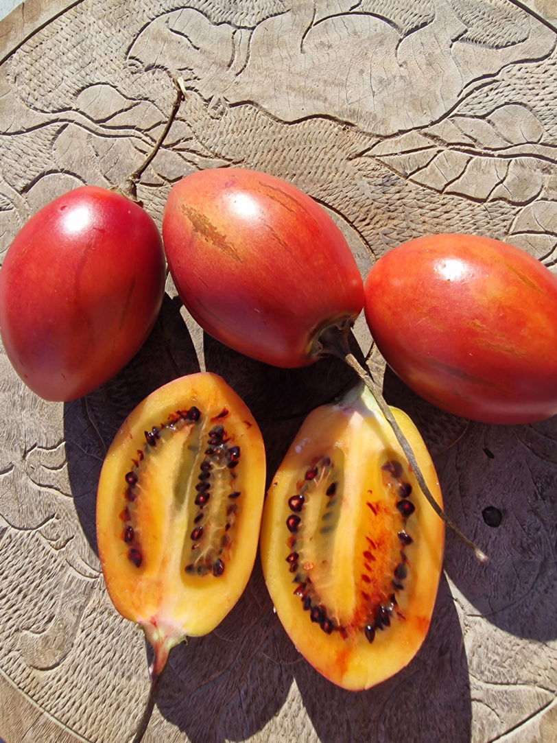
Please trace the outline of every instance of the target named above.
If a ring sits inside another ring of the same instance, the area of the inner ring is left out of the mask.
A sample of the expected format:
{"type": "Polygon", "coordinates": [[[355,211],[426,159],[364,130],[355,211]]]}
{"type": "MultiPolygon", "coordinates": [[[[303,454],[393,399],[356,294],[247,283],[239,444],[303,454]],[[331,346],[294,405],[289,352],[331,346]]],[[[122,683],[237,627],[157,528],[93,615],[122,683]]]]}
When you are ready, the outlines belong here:
{"type": "Polygon", "coordinates": [[[362,310],[362,278],[339,228],[271,175],[218,168],[183,178],[166,203],[163,243],[192,317],[264,363],[313,363],[318,329],[362,310]]]}

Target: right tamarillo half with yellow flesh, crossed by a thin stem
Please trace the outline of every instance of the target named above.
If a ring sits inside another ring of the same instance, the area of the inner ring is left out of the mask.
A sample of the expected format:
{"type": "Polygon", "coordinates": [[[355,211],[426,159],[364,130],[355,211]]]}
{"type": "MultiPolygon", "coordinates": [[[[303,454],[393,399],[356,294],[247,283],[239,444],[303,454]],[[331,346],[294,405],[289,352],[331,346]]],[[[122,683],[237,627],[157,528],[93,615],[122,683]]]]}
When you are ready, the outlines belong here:
{"type": "MultiPolygon", "coordinates": [[[[440,506],[420,433],[392,413],[440,506]]],[[[406,666],[429,629],[443,545],[368,389],[307,416],[267,493],[260,551],[278,618],[317,671],[363,690],[406,666]]]]}

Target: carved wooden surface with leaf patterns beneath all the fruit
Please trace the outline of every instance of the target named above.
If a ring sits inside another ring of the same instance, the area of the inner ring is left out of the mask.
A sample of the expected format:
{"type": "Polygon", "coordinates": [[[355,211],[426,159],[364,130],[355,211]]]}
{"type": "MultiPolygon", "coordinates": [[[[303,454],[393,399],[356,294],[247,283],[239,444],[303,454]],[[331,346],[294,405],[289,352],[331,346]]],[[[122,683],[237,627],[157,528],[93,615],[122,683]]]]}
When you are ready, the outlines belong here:
{"type": "MultiPolygon", "coordinates": [[[[481,233],[556,270],[557,10],[553,0],[30,0],[0,22],[2,255],[39,207],[117,185],[175,91],[189,94],[140,198],[238,164],[330,210],[362,275],[424,233],[481,233]],[[553,27],[552,27],[553,25],[553,27]]],[[[359,343],[370,339],[360,319],[359,343]]],[[[532,360],[535,363],[535,360],[532,360]]],[[[0,354],[0,737],[125,742],[148,691],[143,634],[111,606],[94,534],[106,447],[177,374],[222,374],[261,424],[273,473],[310,407],[351,372],[281,371],[196,328],[167,283],[140,354],[72,403],[36,398],[0,354]]],[[[557,739],[557,419],[487,426],[442,414],[385,374],[423,432],[449,534],[426,643],[368,692],[328,684],[273,614],[258,564],[208,637],[172,651],[147,742],[557,739]],[[488,505],[503,522],[489,528],[488,505]]]]}

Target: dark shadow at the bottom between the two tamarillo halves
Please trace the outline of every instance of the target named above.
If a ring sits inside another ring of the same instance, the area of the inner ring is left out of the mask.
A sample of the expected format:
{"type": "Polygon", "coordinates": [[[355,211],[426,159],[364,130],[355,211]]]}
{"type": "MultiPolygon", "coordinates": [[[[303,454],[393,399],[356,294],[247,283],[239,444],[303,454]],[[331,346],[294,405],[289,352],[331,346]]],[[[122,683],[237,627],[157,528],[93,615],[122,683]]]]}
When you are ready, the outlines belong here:
{"type": "MultiPolygon", "coordinates": [[[[292,684],[290,669],[277,660],[277,621],[257,559],[244,594],[221,624],[172,649],[158,712],[191,743],[243,741],[263,730],[287,704],[292,684]]],[[[160,739],[156,729],[153,734],[160,739]]]]}

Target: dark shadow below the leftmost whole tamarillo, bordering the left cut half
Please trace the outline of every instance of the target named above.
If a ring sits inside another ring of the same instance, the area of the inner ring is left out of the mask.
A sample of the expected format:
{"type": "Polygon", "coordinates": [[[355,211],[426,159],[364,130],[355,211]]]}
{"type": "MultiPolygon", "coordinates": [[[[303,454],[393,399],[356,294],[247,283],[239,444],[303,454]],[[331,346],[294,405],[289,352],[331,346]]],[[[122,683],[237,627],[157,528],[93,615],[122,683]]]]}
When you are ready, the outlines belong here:
{"type": "Polygon", "coordinates": [[[179,300],[165,294],[152,332],[131,361],[99,389],[64,404],[64,440],[74,507],[88,544],[97,555],[97,483],[114,435],[150,392],[176,377],[199,371],[195,346],[180,307],[179,300]]]}

